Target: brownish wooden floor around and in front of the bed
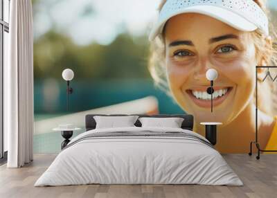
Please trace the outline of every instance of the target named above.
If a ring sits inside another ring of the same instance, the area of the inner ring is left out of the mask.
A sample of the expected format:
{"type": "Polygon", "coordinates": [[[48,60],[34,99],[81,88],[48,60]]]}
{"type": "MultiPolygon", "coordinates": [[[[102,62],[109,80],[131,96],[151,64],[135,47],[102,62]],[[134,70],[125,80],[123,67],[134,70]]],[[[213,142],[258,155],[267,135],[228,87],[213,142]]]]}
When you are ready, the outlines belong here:
{"type": "Polygon", "coordinates": [[[0,167],[0,197],[277,197],[277,155],[264,154],[260,161],[247,154],[225,154],[224,159],[244,186],[200,185],[85,185],[33,187],[55,159],[55,154],[35,154],[30,165],[19,169],[0,167]]]}

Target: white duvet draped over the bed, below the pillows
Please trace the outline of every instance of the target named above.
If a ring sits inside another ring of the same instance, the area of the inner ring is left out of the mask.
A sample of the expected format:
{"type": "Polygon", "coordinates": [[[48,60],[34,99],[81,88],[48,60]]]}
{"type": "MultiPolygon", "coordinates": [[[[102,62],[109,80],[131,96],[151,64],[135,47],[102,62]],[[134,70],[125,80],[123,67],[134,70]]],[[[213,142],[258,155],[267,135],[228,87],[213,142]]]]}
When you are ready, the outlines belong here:
{"type": "MultiPolygon", "coordinates": [[[[70,143],[90,133],[142,129],[184,132],[203,138],[185,129],[124,127],[93,129],[70,143]]],[[[220,153],[200,141],[178,137],[106,137],[85,139],[62,150],[35,186],[88,183],[243,185],[220,153]]]]}

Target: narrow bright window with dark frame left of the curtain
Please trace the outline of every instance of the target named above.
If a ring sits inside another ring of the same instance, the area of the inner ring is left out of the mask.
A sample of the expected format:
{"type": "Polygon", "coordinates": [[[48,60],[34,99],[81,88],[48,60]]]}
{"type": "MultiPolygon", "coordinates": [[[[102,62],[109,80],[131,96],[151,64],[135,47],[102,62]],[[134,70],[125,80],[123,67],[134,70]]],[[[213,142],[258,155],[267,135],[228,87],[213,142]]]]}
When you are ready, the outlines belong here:
{"type": "MultiPolygon", "coordinates": [[[[3,130],[3,69],[8,64],[10,0],[0,0],[0,159],[6,160],[7,134],[3,130]]],[[[0,161],[0,163],[1,163],[0,161]]]]}

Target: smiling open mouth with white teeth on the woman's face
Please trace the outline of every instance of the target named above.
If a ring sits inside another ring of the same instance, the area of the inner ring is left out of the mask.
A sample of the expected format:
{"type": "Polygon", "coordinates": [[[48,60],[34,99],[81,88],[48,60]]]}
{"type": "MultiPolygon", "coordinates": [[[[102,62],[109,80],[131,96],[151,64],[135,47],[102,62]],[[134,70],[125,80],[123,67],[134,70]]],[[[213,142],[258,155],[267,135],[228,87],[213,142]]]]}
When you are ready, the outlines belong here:
{"type": "MultiPolygon", "coordinates": [[[[233,90],[233,87],[214,87],[213,92],[213,106],[222,104],[233,90]]],[[[187,89],[186,93],[199,107],[211,107],[211,94],[208,94],[206,88],[202,89],[187,89]]]]}

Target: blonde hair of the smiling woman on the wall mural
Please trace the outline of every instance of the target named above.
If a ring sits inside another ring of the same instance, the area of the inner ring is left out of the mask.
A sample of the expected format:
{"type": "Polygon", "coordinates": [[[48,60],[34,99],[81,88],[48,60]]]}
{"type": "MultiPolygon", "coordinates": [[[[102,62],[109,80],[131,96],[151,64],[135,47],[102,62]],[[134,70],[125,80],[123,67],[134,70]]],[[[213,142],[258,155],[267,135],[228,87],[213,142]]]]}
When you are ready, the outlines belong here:
{"type": "MultiPolygon", "coordinates": [[[[273,41],[276,40],[277,35],[274,30],[274,26],[271,23],[271,17],[269,9],[267,8],[267,0],[253,0],[255,1],[260,8],[266,13],[269,18],[269,37],[265,37],[265,35],[260,34],[258,30],[253,31],[251,33],[251,38],[253,39],[254,46],[256,48],[256,61],[260,65],[277,65],[277,48],[273,41]]],[[[166,0],[161,0],[159,5],[159,12],[163,5],[166,3],[166,0]]],[[[165,65],[165,57],[166,57],[166,47],[161,39],[155,39],[150,44],[150,59],[148,62],[148,69],[152,78],[154,79],[157,87],[166,91],[169,96],[171,96],[170,89],[168,87],[168,82],[166,78],[166,65],[165,65]]],[[[275,73],[275,72],[272,72],[275,73]]],[[[277,69],[276,69],[277,73],[277,69]]],[[[274,75],[275,76],[275,75],[274,75]]],[[[253,77],[255,78],[255,77],[253,77]]],[[[259,82],[261,80],[259,79],[259,82]]],[[[274,87],[272,82],[265,81],[264,83],[260,83],[258,85],[259,93],[258,93],[258,107],[261,111],[273,116],[277,112],[277,98],[274,93],[277,93],[277,88],[274,87]],[[273,91],[272,91],[273,90],[273,91]],[[263,91],[263,93],[260,93],[263,91]]]]}

